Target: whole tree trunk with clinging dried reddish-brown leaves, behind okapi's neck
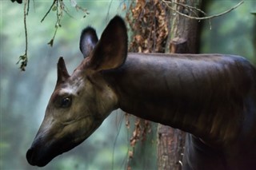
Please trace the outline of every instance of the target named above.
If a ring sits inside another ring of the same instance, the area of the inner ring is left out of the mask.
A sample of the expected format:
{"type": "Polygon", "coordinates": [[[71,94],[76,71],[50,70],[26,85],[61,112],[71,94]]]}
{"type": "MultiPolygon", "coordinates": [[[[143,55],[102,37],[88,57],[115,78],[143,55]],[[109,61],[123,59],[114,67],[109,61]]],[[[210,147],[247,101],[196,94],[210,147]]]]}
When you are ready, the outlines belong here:
{"type": "MultiPolygon", "coordinates": [[[[197,53],[198,21],[182,17],[174,10],[182,14],[197,16],[198,10],[188,6],[199,8],[201,1],[140,0],[131,2],[126,14],[129,30],[132,32],[129,51],[135,53],[197,53]]],[[[126,8],[127,6],[124,6],[124,9],[126,8]]],[[[127,127],[130,127],[129,122],[126,123],[127,127]]],[[[143,139],[143,136],[150,135],[146,133],[148,131],[152,132],[149,129],[154,127],[153,123],[135,122],[139,123],[135,123],[133,135],[130,138],[132,149],[129,153],[127,169],[132,169],[135,166],[133,163],[137,162],[136,160],[140,161],[140,159],[143,159],[142,157],[148,156],[138,156],[134,151],[138,150],[138,148],[136,149],[138,141],[143,139]]],[[[156,140],[158,141],[158,169],[181,169],[185,132],[168,126],[158,125],[156,140]]],[[[146,141],[144,140],[143,142],[146,141]]],[[[143,145],[149,146],[148,144],[143,145]]],[[[154,144],[151,144],[151,146],[156,147],[154,144]]],[[[139,145],[139,147],[142,147],[142,145],[139,145]]],[[[139,150],[143,149],[146,148],[143,147],[139,150]]],[[[148,162],[147,164],[150,163],[148,162]]],[[[148,168],[147,166],[143,167],[148,168]]]]}

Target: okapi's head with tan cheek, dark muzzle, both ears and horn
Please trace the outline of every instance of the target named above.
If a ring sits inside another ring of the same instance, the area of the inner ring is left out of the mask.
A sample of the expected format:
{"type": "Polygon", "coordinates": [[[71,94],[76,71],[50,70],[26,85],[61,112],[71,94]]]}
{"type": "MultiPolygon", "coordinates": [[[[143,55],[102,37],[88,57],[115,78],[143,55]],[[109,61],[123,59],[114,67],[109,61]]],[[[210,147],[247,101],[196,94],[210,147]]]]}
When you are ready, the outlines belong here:
{"type": "Polygon", "coordinates": [[[85,59],[71,76],[63,58],[59,58],[57,85],[26,153],[31,165],[45,166],[76,147],[118,108],[118,97],[101,73],[117,69],[126,61],[127,33],[122,18],[113,18],[99,41],[95,30],[87,27],[82,31],[80,49],[85,59]]]}

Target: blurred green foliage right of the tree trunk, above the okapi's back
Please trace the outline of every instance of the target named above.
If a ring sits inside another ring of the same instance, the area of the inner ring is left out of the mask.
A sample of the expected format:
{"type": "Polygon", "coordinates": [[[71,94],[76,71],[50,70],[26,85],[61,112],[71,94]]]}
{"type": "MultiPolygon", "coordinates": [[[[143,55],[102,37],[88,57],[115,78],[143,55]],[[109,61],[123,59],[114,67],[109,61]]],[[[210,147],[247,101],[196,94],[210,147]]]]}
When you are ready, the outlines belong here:
{"type": "MultiPolygon", "coordinates": [[[[238,0],[207,1],[206,13],[218,14],[237,4],[238,0]]],[[[256,65],[256,2],[245,1],[238,9],[222,17],[204,21],[201,53],[230,53],[246,57],[256,65]],[[210,30],[210,25],[211,30],[210,30]]]]}

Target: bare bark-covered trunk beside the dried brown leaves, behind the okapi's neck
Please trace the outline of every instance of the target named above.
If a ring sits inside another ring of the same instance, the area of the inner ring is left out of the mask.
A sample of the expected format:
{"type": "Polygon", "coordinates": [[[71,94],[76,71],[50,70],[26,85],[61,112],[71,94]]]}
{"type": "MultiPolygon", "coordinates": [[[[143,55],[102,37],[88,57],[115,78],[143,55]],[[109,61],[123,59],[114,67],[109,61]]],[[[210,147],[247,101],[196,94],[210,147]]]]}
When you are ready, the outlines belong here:
{"type": "MultiPolygon", "coordinates": [[[[182,14],[194,15],[184,4],[199,8],[201,0],[172,0],[169,4],[182,14]]],[[[198,21],[185,18],[173,10],[169,10],[169,35],[166,42],[166,53],[197,53],[198,52],[198,21]]],[[[158,170],[182,169],[182,154],[184,151],[186,133],[181,130],[158,125],[158,170]]]]}

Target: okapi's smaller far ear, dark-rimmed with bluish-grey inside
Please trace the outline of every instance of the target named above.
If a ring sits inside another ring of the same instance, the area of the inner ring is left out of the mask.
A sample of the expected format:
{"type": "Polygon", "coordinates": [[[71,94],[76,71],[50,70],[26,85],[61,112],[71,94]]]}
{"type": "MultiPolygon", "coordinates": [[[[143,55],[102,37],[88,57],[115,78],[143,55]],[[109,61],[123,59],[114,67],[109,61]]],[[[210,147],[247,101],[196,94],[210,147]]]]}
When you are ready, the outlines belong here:
{"type": "Polygon", "coordinates": [[[98,37],[96,31],[92,27],[88,26],[86,29],[82,30],[80,36],[80,50],[83,57],[90,56],[90,53],[93,51],[97,42],[98,37]]]}

